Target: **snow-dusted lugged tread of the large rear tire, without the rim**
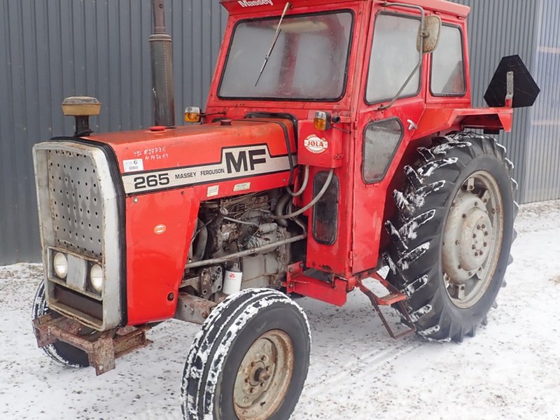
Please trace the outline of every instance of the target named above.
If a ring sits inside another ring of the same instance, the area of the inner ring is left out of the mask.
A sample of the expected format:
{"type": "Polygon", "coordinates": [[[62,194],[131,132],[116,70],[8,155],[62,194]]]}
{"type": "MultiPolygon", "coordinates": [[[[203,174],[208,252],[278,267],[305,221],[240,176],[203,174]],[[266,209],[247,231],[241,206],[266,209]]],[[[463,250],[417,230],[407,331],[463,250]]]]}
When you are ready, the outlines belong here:
{"type": "MultiPolygon", "coordinates": [[[[487,323],[487,317],[484,314],[479,322],[465,330],[463,325],[454,323],[451,316],[446,313],[444,304],[437,295],[433,284],[428,281],[421,287],[414,286],[419,279],[426,278],[426,276],[428,279],[433,279],[434,276],[439,275],[435,272],[437,271],[439,246],[431,246],[431,244],[435,244],[440,235],[428,233],[423,237],[408,238],[405,232],[409,232],[409,230],[406,226],[419,218],[421,220],[421,217],[428,211],[433,211],[433,216],[424,223],[430,225],[430,223],[442,222],[445,202],[441,203],[442,197],[438,197],[438,195],[444,195],[447,200],[447,197],[456,188],[461,169],[468,165],[473,158],[486,154],[494,155],[503,162],[503,166],[510,175],[513,167],[505,158],[505,148],[492,137],[480,134],[458,133],[448,137],[438,137],[433,139],[432,147],[420,147],[417,151],[419,160],[413,165],[405,167],[404,188],[393,192],[397,214],[386,223],[386,229],[392,234],[391,246],[384,255],[384,260],[391,268],[387,279],[402,293],[409,296],[405,303],[409,315],[430,305],[429,313],[417,317],[414,321],[420,335],[431,340],[448,341],[452,339],[462,342],[465,335],[475,335],[478,325],[487,323]],[[423,197],[423,200],[415,202],[414,197],[418,196],[423,197]],[[398,232],[398,235],[395,232],[398,232]],[[421,254],[417,255],[417,258],[410,260],[408,264],[402,264],[403,258],[407,258],[407,255],[414,253],[414,250],[426,243],[430,244],[428,249],[424,249],[421,254]]],[[[511,188],[512,191],[515,190],[513,180],[511,188]]],[[[514,216],[517,216],[517,211],[516,203],[514,216]]],[[[512,239],[515,239],[516,236],[517,232],[512,232],[512,239]]]]}

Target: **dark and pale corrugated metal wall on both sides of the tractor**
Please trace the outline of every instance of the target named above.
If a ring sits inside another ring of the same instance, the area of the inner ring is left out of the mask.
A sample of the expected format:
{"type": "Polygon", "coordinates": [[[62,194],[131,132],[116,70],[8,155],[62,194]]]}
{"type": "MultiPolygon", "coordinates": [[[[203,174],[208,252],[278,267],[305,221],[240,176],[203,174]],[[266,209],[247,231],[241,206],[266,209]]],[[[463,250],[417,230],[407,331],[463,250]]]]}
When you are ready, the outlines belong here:
{"type": "MultiPolygon", "coordinates": [[[[473,9],[475,104],[484,104],[484,90],[503,55],[519,53],[543,92],[549,90],[533,111],[518,111],[514,132],[500,141],[516,164],[524,188],[521,202],[560,197],[553,165],[560,160],[554,142],[560,112],[560,55],[554,50],[559,2],[456,2],[473,9]]],[[[204,106],[225,13],[217,0],[167,0],[166,5],[181,120],[183,106],[204,106]]],[[[60,111],[64,97],[87,94],[101,100],[102,114],[92,119],[98,132],[151,125],[150,32],[150,0],[0,0],[0,264],[39,258],[31,146],[73,132],[73,121],[60,111]]]]}

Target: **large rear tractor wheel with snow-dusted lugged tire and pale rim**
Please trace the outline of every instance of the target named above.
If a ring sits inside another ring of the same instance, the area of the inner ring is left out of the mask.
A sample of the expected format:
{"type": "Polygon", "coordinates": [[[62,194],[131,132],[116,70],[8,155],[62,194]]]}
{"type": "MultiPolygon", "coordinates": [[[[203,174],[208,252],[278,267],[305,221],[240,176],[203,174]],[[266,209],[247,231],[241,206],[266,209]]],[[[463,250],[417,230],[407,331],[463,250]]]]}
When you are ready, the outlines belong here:
{"type": "Polygon", "coordinates": [[[393,197],[388,281],[422,337],[462,342],[486,324],[515,239],[512,163],[495,139],[459,133],[418,148],[393,197]]]}

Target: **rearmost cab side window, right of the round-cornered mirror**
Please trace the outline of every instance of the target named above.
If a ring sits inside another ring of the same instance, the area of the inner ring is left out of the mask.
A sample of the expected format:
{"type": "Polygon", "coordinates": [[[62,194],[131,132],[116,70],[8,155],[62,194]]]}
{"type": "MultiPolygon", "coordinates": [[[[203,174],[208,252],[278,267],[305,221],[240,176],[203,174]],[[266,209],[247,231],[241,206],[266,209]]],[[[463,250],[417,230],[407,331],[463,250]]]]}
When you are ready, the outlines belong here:
{"type": "Polygon", "coordinates": [[[440,41],[432,54],[431,92],[435,96],[463,96],[465,62],[463,34],[458,27],[442,26],[440,41]]]}

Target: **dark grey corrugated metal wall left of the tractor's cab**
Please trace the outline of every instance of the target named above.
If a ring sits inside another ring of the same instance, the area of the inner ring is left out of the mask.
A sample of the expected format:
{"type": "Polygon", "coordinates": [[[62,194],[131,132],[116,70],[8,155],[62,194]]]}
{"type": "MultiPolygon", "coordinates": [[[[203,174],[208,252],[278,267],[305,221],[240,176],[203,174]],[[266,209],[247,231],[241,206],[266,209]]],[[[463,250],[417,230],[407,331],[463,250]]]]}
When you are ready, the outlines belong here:
{"type": "MultiPolygon", "coordinates": [[[[176,111],[203,106],[226,15],[218,1],[167,0],[176,111]]],[[[0,264],[38,260],[31,147],[71,134],[64,97],[103,103],[97,132],[151,125],[150,0],[0,0],[0,264]]]]}

